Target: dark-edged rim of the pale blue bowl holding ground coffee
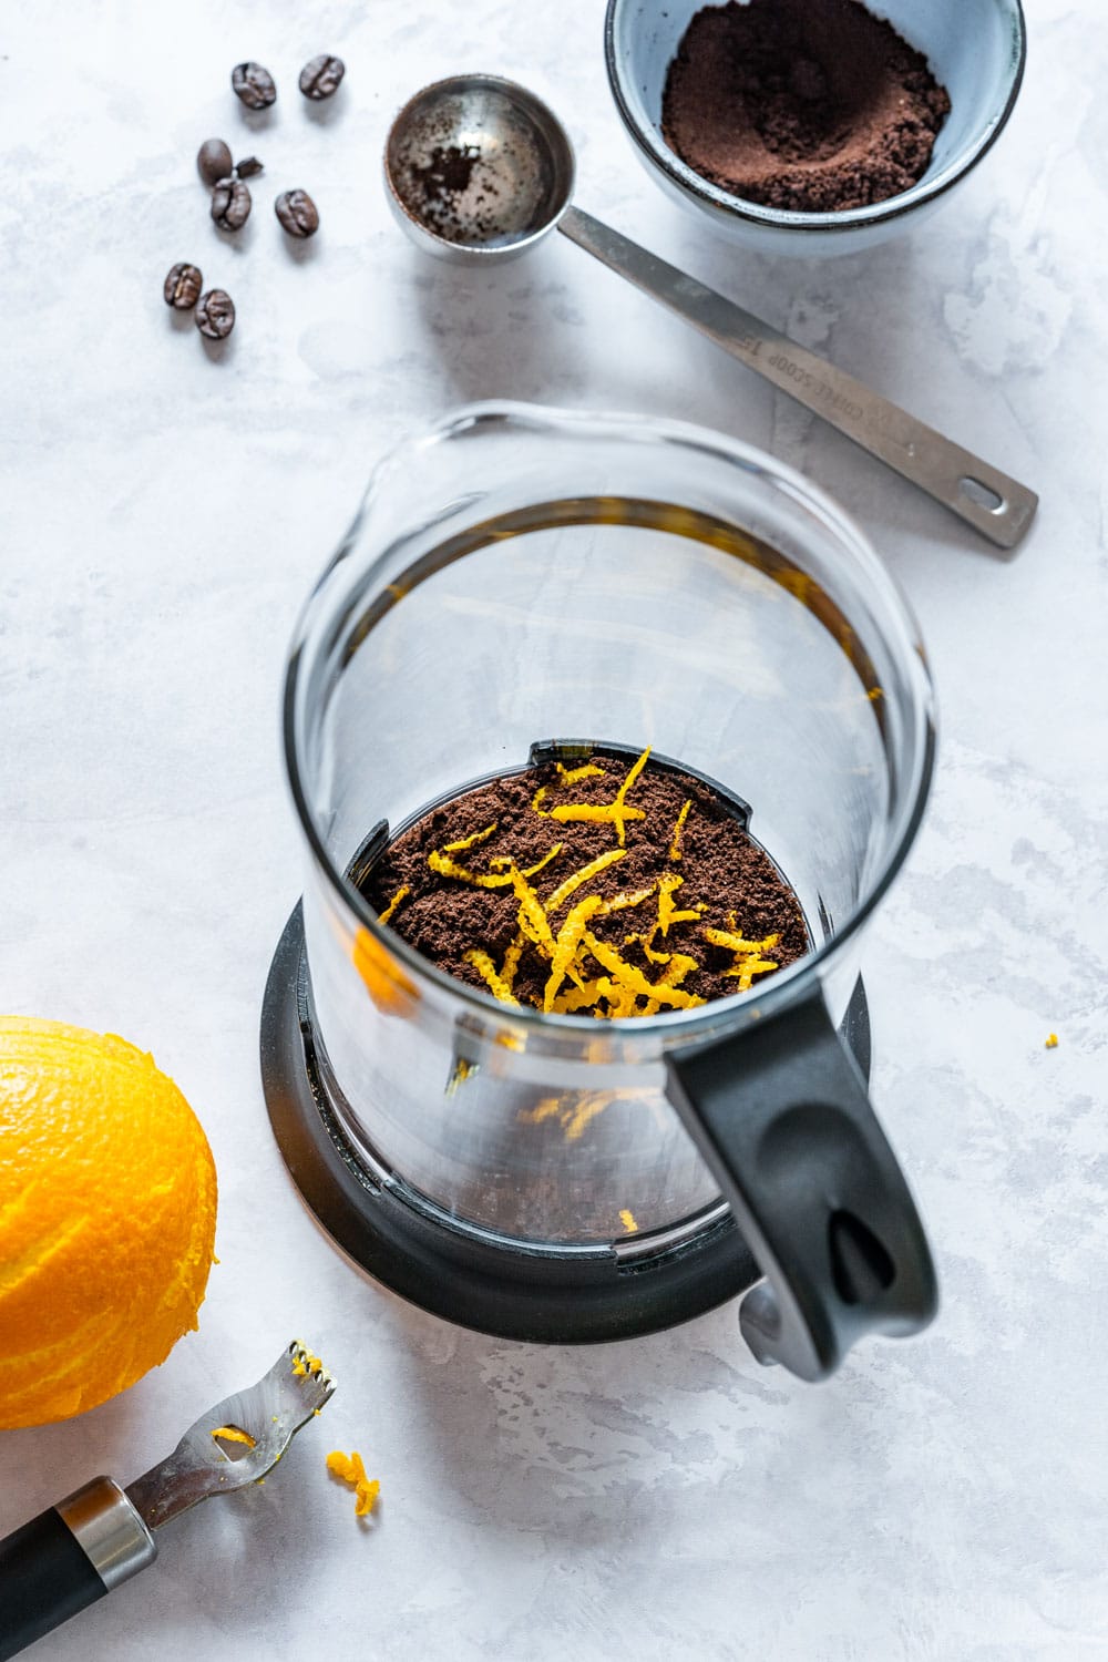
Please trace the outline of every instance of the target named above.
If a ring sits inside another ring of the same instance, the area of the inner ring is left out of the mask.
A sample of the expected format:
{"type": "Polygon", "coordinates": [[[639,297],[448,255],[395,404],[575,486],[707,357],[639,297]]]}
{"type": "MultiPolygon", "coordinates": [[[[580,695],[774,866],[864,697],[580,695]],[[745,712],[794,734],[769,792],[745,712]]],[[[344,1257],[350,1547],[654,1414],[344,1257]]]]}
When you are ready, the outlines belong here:
{"type": "MultiPolygon", "coordinates": [[[[988,126],[972,145],[967,145],[957,161],[952,161],[930,183],[914,184],[910,189],[900,191],[897,196],[890,196],[884,203],[870,203],[865,208],[847,208],[832,213],[796,213],[786,208],[766,208],[762,203],[751,203],[743,196],[731,196],[729,191],[721,189],[718,184],[713,184],[711,179],[696,173],[694,168],[689,168],[688,163],[681,161],[681,158],[669,150],[653,123],[646,131],[643,131],[640,121],[631,111],[630,101],[623,93],[623,71],[616,58],[615,45],[616,12],[623,5],[630,3],[633,3],[633,0],[608,0],[608,10],[605,13],[605,65],[608,68],[608,85],[611,88],[616,110],[620,111],[620,120],[638,148],[645,153],[646,160],[656,168],[661,168],[678,189],[684,191],[688,196],[699,198],[706,206],[719,209],[734,219],[746,219],[749,224],[762,228],[772,226],[779,231],[856,231],[859,226],[885,224],[889,219],[899,219],[904,214],[912,213],[922,203],[935,201],[957,184],[958,179],[963,179],[970,168],[977,166],[982,156],[992,150],[1008,125],[1008,116],[1012,115],[1020,86],[1023,85],[1023,70],[1027,66],[1027,18],[1023,17],[1023,3],[1022,0],[1003,0],[1003,3],[1012,7],[1020,48],[1015,73],[1012,75],[1012,85],[1008,86],[1008,96],[992,126],[988,126]]],[[[704,0],[704,3],[708,5],[711,0],[704,0]]]]}

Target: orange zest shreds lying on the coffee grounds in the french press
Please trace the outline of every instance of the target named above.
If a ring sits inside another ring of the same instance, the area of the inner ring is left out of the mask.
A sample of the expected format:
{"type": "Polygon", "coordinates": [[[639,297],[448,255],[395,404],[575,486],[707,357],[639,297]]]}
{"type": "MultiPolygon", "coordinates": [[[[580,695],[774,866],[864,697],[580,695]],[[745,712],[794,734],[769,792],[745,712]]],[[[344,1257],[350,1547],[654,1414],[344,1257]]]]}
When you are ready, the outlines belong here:
{"type": "MultiPolygon", "coordinates": [[[[570,906],[560,922],[555,922],[555,917],[573,901],[573,896],[580,889],[585,889],[595,878],[626,856],[628,823],[646,818],[643,808],[628,803],[628,796],[635,789],[635,783],[648,760],[650,746],[631,763],[623,783],[608,803],[561,801],[550,806],[553,794],[571,788],[578,781],[605,778],[605,768],[595,763],[583,763],[576,768],[556,763],[556,781],[543,784],[535,791],[530,806],[540,818],[561,824],[571,821],[611,824],[616,836],[616,848],[606,849],[578,871],[570,873],[547,899],[538,894],[532,879],[558,858],[563,851],[561,843],[555,843],[540,861],[525,869],[520,869],[512,858],[503,854],[493,856],[488,861],[487,871],[477,871],[457,861],[455,854],[480,848],[497,831],[498,821],[493,821],[470,836],[445,843],[427,856],[430,869],[442,878],[467,883],[478,889],[510,888],[515,891],[518,931],[503,951],[502,964],[497,966],[493,954],[482,947],[472,947],[463,954],[463,961],[477,971],[488,991],[502,1004],[515,1007],[520,1004],[515,994],[515,977],[528,942],[550,964],[550,974],[542,994],[540,1007],[543,1010],[558,1015],[585,1014],[611,1020],[626,1015],[655,1015],[661,1009],[688,1010],[704,1004],[703,997],[683,987],[683,982],[694,971],[701,969],[699,959],[689,952],[661,951],[655,944],[658,936],[661,934],[664,939],[674,924],[699,924],[708,909],[704,902],[676,904],[676,891],[684,886],[684,878],[676,871],[668,871],[656,883],[651,883],[650,888],[633,892],[620,892],[608,897],[598,892],[586,892],[570,906]],[[593,919],[608,917],[611,912],[643,906],[655,896],[658,911],[653,924],[623,937],[625,946],[638,942],[646,962],[661,971],[656,979],[651,979],[635,964],[628,962],[615,946],[598,939],[590,924],[593,919]]],[[[683,859],[683,839],[691,809],[693,798],[684,801],[673,826],[668,846],[668,859],[673,864],[683,859]]],[[[389,921],[407,892],[409,888],[405,884],[394,894],[387,911],[382,912],[382,922],[389,921]]],[[[771,934],[761,941],[744,939],[736,926],[734,912],[728,917],[728,929],[706,926],[701,934],[708,946],[721,947],[733,954],[733,964],[723,974],[734,977],[739,982],[741,992],[746,992],[753,986],[756,976],[769,974],[769,971],[779,967],[776,959],[766,957],[777,946],[779,936],[771,934]]],[[[533,994],[528,997],[533,997],[533,994]]],[[[603,1102],[600,1107],[603,1107],[603,1102]]],[[[540,1104],[540,1109],[532,1112],[532,1119],[540,1120],[543,1117],[542,1109],[543,1105],[540,1104]]],[[[600,1112],[600,1109],[591,1100],[586,1100],[575,1110],[571,1120],[566,1122],[566,1135],[580,1135],[580,1130],[595,1112],[600,1112]]]]}

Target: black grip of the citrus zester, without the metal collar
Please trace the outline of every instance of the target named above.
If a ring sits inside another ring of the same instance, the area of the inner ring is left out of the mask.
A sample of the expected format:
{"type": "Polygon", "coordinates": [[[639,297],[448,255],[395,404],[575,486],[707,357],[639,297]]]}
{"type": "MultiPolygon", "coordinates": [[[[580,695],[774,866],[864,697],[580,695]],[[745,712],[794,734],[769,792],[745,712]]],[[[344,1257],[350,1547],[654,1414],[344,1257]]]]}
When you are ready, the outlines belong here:
{"type": "Polygon", "coordinates": [[[0,1662],[106,1594],[83,1546],[53,1506],[0,1541],[0,1662]]]}

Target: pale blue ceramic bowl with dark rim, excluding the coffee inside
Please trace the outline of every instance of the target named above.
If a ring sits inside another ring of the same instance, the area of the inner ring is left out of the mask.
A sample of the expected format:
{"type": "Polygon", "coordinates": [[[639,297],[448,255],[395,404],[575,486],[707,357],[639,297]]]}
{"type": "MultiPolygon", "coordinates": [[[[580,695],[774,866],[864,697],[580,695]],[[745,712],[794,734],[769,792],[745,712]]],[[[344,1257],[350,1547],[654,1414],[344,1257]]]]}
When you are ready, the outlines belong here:
{"type": "MultiPolygon", "coordinates": [[[[762,0],[764,3],[764,0],[762,0]]],[[[605,55],[616,108],[655,179],[676,201],[746,248],[771,254],[846,254],[919,224],[972,173],[1000,136],[1023,78],[1020,0],[869,0],[922,52],[950,93],[927,173],[909,191],[844,213],[791,213],[733,196],[661,136],[666,73],[704,0],[608,0],[605,55]]]]}

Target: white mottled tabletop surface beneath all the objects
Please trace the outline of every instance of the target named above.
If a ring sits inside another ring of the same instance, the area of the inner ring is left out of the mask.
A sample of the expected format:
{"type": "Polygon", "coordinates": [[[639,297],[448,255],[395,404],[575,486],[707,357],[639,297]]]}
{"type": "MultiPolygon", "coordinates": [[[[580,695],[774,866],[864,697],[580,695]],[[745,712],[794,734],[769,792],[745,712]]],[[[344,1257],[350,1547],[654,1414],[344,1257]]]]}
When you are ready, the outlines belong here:
{"type": "MultiPolygon", "coordinates": [[[[738,256],[640,173],[600,0],[103,0],[0,25],[0,1007],[148,1045],[209,1130],[221,1265],[199,1333],[70,1424],[0,1436],[0,1534],[123,1479],[304,1333],[326,1429],[37,1655],[1108,1657],[1103,261],[1100,0],[1030,0],[1012,126],[922,236],[841,264],[738,256]],[[319,50],[349,66],[312,115],[319,50]],[[281,85],[251,131],[228,88],[281,85]],[[1012,560],[565,243],[485,283],[387,216],[390,111],[455,68],[568,118],[580,201],[1027,477],[1012,560]],[[201,138],[256,150],[239,243],[201,138]],[[304,184],[322,233],[271,211],[304,184]],[[198,261],[239,324],[161,302],[198,261]],[[927,828],[870,939],[875,1095],[944,1311],[821,1389],[761,1373],[734,1310],[630,1346],[460,1333],[360,1278],[269,1137],[259,994],[297,883],[276,738],[296,608],[400,430],[473,396],[658,411],[806,469],[907,585],[944,711],[927,828]],[[1043,1049],[1050,1029],[1060,1034],[1043,1049]],[[384,1484],[362,1532],[322,1454],[384,1484]]],[[[2,1360],[0,1360],[2,1366],[2,1360]]]]}

